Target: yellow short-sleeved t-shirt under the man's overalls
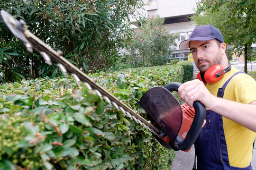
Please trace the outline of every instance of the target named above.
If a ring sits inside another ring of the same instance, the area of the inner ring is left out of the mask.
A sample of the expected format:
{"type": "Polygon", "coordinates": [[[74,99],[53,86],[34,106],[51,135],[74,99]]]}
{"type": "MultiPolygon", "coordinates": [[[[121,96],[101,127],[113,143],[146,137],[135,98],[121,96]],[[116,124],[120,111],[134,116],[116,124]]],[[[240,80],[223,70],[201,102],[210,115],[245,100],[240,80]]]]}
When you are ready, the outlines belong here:
{"type": "MultiPolygon", "coordinates": [[[[219,87],[222,87],[229,77],[238,71],[240,70],[232,66],[231,70],[217,83],[206,84],[207,89],[217,96],[219,87]]],[[[256,101],[256,81],[244,73],[234,76],[227,85],[223,98],[245,104],[256,101]]],[[[225,117],[223,117],[223,128],[230,166],[239,168],[249,166],[256,133],[225,117]]]]}

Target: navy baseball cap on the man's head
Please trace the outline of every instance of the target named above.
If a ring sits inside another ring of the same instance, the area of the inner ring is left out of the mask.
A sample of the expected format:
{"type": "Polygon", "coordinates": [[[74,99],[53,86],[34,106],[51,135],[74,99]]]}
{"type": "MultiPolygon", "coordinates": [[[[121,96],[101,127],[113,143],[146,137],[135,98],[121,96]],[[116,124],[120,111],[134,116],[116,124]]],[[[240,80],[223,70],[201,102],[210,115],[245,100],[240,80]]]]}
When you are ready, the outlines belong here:
{"type": "Polygon", "coordinates": [[[189,39],[180,43],[179,48],[181,50],[189,48],[190,41],[208,41],[212,39],[224,42],[223,36],[218,28],[211,25],[197,26],[189,36],[189,39]]]}

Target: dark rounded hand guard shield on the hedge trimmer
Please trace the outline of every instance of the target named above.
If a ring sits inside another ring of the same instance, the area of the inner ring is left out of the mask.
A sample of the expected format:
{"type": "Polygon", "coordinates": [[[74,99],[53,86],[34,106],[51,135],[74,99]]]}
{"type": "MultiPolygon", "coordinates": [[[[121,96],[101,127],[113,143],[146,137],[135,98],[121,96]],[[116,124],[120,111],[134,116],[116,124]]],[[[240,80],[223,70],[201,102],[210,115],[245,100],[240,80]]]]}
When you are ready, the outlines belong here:
{"type": "Polygon", "coordinates": [[[181,105],[174,95],[164,87],[153,87],[141,97],[140,106],[174,144],[183,119],[181,105]]]}

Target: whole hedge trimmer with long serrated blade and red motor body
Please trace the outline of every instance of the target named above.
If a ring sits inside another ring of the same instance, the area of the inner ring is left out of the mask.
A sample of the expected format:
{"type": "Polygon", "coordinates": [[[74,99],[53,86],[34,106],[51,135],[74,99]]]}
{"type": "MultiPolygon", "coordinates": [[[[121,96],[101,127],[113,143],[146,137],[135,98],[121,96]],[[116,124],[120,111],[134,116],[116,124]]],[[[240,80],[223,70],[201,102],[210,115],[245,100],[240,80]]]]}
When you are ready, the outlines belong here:
{"type": "Polygon", "coordinates": [[[140,105],[147,113],[147,119],[140,116],[114,95],[95,83],[89,76],[67,61],[61,51],[54,51],[34,34],[27,30],[23,20],[17,20],[8,12],[1,10],[1,16],[10,31],[25,43],[27,51],[38,51],[48,65],[57,64],[65,76],[71,74],[78,84],[84,85],[109,104],[120,110],[130,119],[148,129],[167,149],[188,150],[197,138],[205,119],[205,107],[201,102],[194,102],[194,110],[180,105],[171,91],[177,91],[180,83],[170,83],[165,87],[153,87],[141,98],[140,105]],[[186,111],[185,111],[186,110],[186,111]],[[183,116],[184,115],[184,116],[183,116]],[[185,121],[190,119],[190,123],[185,121]],[[191,124],[192,122],[192,124],[191,124]],[[189,129],[189,130],[188,130],[189,129]],[[186,134],[187,133],[187,134],[186,134]],[[185,135],[184,135],[185,134],[185,135]]]}

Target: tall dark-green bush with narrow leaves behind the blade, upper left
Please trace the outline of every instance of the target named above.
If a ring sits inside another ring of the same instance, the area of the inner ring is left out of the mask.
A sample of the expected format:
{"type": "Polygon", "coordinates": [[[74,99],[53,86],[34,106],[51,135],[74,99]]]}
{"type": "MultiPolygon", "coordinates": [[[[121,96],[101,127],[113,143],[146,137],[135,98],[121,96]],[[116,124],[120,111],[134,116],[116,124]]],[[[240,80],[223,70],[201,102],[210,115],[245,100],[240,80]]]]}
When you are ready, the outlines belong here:
{"type": "MultiPolygon", "coordinates": [[[[26,21],[28,30],[82,71],[115,68],[119,49],[129,39],[129,17],[142,0],[1,0],[0,8],[26,21]]],[[[37,52],[28,53],[0,19],[0,79],[54,77],[62,73],[48,66],[37,52]]]]}

